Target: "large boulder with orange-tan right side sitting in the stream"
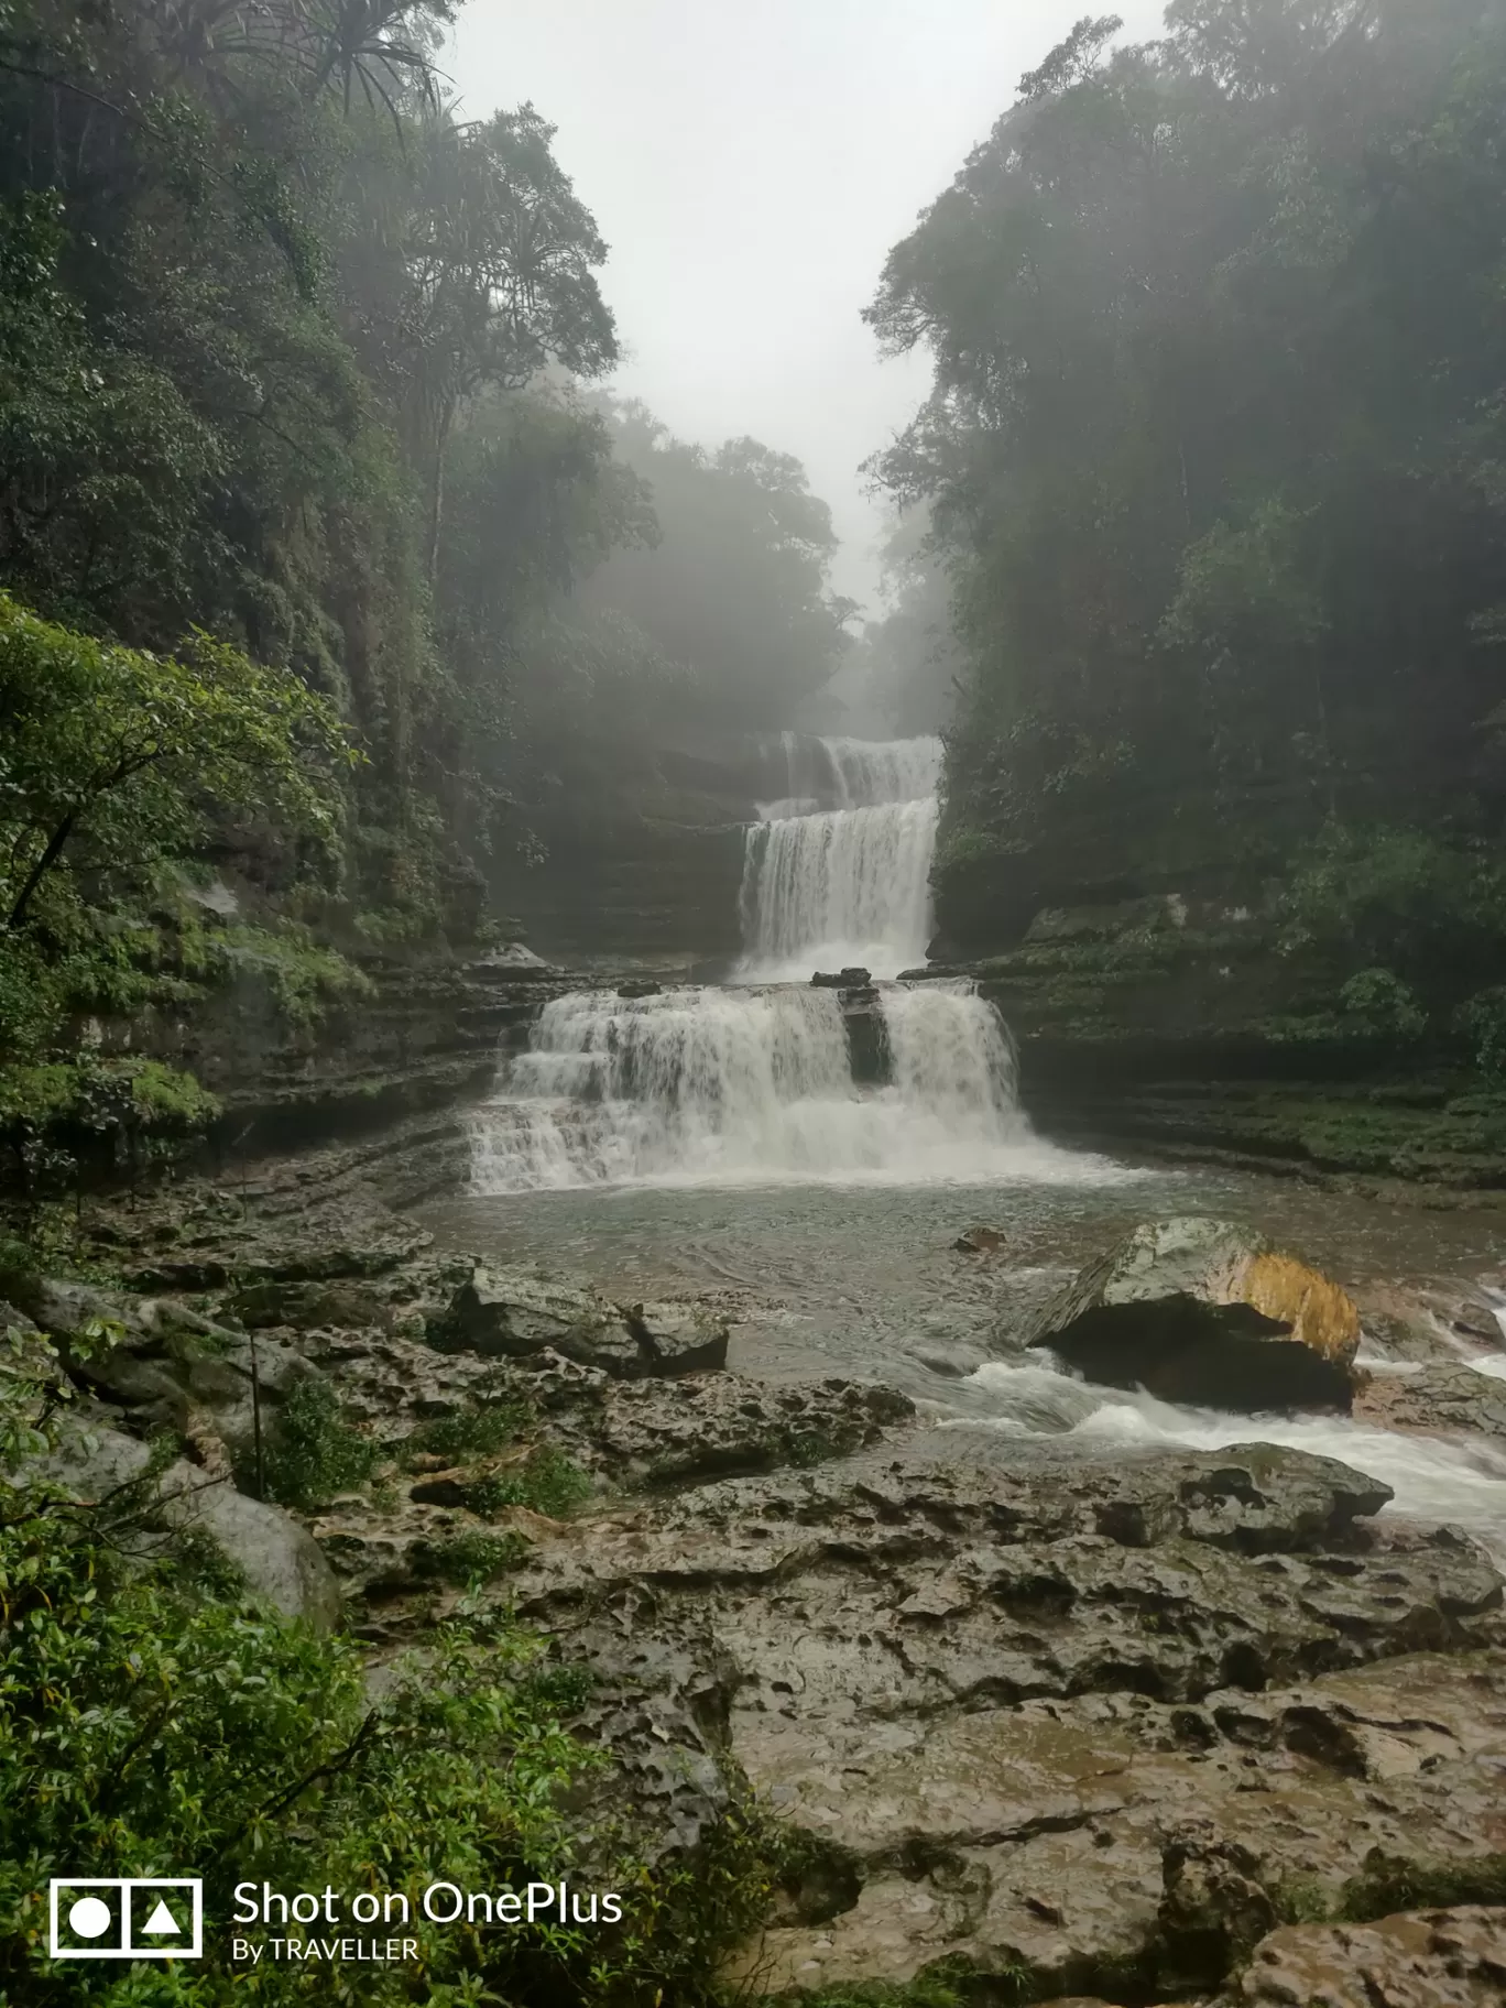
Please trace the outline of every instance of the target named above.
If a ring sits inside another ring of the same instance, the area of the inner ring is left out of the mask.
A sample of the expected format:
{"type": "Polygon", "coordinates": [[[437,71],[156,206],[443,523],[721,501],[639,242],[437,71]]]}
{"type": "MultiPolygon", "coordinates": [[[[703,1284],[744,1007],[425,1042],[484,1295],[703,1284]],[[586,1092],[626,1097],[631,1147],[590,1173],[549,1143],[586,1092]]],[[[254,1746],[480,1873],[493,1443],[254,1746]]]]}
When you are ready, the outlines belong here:
{"type": "Polygon", "coordinates": [[[1163,1402],[1347,1410],[1359,1311],[1247,1227],[1143,1221],[1036,1313],[1026,1345],[1163,1402]]]}

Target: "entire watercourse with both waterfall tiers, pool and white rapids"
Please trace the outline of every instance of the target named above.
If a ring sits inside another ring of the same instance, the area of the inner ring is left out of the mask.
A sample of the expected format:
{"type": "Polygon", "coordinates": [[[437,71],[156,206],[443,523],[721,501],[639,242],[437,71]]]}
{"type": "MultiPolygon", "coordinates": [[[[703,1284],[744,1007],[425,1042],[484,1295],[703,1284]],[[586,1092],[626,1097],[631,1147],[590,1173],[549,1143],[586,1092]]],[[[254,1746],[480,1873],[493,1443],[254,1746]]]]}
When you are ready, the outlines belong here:
{"type": "MultiPolygon", "coordinates": [[[[1438,1243],[1478,1273],[1500,1217],[1131,1171],[1036,1139],[992,1006],[964,982],[892,980],[926,948],[938,765],[930,739],[787,737],[787,795],[747,835],[737,980],[546,1004],[472,1112],[470,1197],[430,1209],[434,1225],[616,1293],[723,1291],[735,1365],[888,1379],[960,1448],[978,1430],[1126,1454],[1259,1438],[1341,1458],[1386,1480],[1394,1510],[1458,1522],[1506,1554],[1506,1454],[1484,1438],[1173,1408],[1010,1355],[1000,1301],[1056,1287],[1145,1215],[1247,1219],[1339,1277],[1365,1261],[1428,1273],[1438,1243]],[[809,982],[853,964],[890,980],[859,998],[809,982]],[[1000,1263],[954,1253],[970,1221],[1004,1231],[1000,1263]]],[[[1408,1369],[1373,1339],[1369,1357],[1408,1369]]],[[[1474,1347],[1468,1363],[1500,1375],[1506,1353],[1474,1347]]]]}

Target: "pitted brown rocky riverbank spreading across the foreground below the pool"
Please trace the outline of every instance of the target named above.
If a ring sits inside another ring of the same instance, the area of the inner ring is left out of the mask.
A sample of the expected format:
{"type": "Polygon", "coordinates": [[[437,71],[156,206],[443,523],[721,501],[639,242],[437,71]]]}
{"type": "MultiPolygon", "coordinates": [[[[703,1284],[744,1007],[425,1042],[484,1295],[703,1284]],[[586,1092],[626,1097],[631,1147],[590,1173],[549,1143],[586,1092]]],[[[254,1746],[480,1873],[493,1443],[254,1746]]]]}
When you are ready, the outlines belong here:
{"type": "MultiPolygon", "coordinates": [[[[438,1251],[363,1165],[112,1211],[82,1251],[108,1279],[30,1287],[64,1341],[122,1327],[74,1363],[92,1450],[64,1466],[98,1484],[171,1430],[181,1510],[217,1498],[255,1586],[373,1671],[482,1578],[588,1677],[578,1727],[639,1833],[695,1853],[757,1823],[771,1896],[729,1986],[1500,2000],[1506,1612],[1476,1538],[1259,1418],[1217,1450],[1028,1440],[729,1371],[725,1301],[438,1251]],[[311,1386],[359,1476],[245,1498],[311,1386]]],[[[1349,1333],[1345,1400],[1500,1432],[1500,1384],[1424,1357],[1434,1311],[1388,1315],[1418,1371],[1367,1379],[1349,1333]]]]}

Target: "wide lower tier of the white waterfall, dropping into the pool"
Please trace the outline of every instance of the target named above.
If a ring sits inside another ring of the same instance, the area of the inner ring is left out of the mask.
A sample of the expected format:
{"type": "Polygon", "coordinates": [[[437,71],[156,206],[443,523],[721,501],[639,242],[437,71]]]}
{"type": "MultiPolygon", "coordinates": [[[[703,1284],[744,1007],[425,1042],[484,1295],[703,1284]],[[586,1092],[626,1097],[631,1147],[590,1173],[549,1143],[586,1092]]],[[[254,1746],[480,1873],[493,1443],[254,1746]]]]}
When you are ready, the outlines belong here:
{"type": "Polygon", "coordinates": [[[875,1008],[888,1086],[853,1080],[833,990],[556,998],[472,1112],[472,1189],[1038,1175],[992,1006],[886,984],[875,1008]]]}

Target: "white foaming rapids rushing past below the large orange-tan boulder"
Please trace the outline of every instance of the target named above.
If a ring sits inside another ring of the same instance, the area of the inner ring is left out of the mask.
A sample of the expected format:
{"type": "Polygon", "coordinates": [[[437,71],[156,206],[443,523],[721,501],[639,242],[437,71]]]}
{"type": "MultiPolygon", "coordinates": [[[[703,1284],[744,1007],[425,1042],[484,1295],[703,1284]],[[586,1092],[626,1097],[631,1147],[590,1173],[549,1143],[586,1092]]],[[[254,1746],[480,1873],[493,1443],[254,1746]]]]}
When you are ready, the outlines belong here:
{"type": "MultiPolygon", "coordinates": [[[[1094,1388],[1048,1365],[990,1359],[970,1375],[992,1414],[974,1418],[1008,1436],[1068,1436],[1078,1442],[1185,1450],[1279,1444],[1379,1478],[1396,1498],[1388,1512],[1466,1528],[1506,1560],[1506,1452],[1484,1438],[1375,1430],[1347,1416],[1227,1416],[1177,1408],[1145,1390],[1094,1388]]],[[[958,1418],[960,1422],[960,1418],[958,1418]]]]}

